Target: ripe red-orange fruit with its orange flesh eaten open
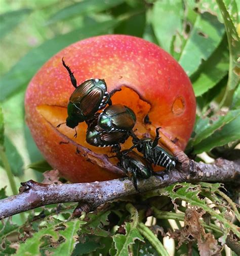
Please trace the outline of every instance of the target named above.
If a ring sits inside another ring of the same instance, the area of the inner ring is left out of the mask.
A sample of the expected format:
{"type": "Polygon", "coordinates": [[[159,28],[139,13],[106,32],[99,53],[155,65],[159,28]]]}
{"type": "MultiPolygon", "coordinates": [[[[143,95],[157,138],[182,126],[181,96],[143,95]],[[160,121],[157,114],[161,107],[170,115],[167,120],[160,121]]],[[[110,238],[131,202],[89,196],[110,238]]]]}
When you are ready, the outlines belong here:
{"type": "Polygon", "coordinates": [[[122,87],[121,92],[113,95],[112,103],[134,110],[138,136],[147,132],[154,137],[156,127],[161,126],[169,139],[185,148],[194,125],[196,103],[192,85],[177,61],[163,49],[140,38],[93,37],[53,56],[32,78],[26,91],[26,121],[31,134],[49,164],[64,177],[72,182],[88,182],[116,178],[119,173],[103,155],[109,151],[95,150],[87,144],[86,124],[78,125],[76,140],[73,130],[56,128],[66,119],[66,107],[74,90],[62,66],[62,57],[78,84],[99,78],[106,81],[109,91],[122,87]],[[123,87],[131,90],[123,90],[123,87]],[[146,114],[151,124],[143,123],[146,114]],[[61,141],[70,142],[59,145],[61,141]],[[82,145],[78,146],[79,154],[75,154],[76,143],[82,145]]]}

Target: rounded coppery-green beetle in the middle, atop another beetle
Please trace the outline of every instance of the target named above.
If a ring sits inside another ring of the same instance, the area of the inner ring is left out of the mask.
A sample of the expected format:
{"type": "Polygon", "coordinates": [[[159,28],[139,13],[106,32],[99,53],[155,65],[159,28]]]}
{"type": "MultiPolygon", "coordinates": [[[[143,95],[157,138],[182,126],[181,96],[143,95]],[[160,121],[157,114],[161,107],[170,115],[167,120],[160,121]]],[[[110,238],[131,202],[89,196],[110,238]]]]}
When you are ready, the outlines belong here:
{"type": "Polygon", "coordinates": [[[133,110],[122,104],[108,106],[98,118],[98,125],[105,131],[131,131],[135,123],[133,110]]]}

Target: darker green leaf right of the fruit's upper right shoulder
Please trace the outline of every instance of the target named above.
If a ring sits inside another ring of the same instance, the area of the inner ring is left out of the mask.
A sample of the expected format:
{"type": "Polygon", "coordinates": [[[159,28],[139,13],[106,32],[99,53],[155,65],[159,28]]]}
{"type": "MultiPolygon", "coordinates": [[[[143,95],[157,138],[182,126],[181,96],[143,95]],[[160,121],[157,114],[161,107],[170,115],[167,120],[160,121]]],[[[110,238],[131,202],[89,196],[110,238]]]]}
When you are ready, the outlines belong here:
{"type": "Polygon", "coordinates": [[[226,44],[226,38],[224,38],[211,57],[207,61],[203,61],[199,70],[191,76],[196,97],[213,88],[227,75],[229,55],[226,44]]]}

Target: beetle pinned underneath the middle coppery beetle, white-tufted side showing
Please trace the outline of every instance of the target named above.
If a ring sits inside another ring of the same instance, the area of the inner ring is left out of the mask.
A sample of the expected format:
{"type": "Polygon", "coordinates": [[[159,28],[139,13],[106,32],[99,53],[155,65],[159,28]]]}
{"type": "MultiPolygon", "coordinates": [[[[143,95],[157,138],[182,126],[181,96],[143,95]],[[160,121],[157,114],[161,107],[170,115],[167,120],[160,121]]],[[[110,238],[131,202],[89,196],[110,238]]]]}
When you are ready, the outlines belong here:
{"type": "Polygon", "coordinates": [[[120,148],[119,143],[124,143],[130,136],[129,132],[105,131],[98,125],[98,117],[91,120],[88,126],[86,141],[96,147],[120,148]]]}

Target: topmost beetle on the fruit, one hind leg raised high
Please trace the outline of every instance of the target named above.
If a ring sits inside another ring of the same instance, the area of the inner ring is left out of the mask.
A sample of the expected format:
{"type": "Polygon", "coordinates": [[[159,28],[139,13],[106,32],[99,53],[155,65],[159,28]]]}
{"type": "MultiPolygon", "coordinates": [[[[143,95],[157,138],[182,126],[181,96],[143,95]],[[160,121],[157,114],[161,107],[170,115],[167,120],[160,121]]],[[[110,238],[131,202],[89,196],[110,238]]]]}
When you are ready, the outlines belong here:
{"type": "Polygon", "coordinates": [[[104,79],[89,79],[77,86],[76,79],[63,58],[62,64],[68,71],[71,83],[75,88],[69,99],[67,106],[68,117],[66,119],[66,125],[74,129],[79,122],[92,118],[98,110],[105,108],[107,104],[111,105],[110,98],[113,93],[121,89],[114,89],[110,93],[107,92],[107,85],[104,79]]]}

